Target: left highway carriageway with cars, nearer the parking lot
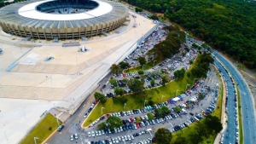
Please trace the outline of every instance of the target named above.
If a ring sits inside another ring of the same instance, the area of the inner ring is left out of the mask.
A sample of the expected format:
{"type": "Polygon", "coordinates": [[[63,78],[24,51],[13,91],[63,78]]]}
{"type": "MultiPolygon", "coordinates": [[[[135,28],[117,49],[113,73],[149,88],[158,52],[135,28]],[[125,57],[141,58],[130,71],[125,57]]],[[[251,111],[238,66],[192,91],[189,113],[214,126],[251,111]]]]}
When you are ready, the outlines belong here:
{"type": "MultiPolygon", "coordinates": [[[[214,64],[218,67],[218,70],[221,72],[222,77],[225,81],[226,86],[226,97],[227,99],[227,106],[226,106],[226,112],[228,113],[228,124],[227,124],[227,130],[224,134],[224,143],[236,143],[238,141],[238,138],[236,138],[236,121],[237,118],[235,116],[235,112],[237,112],[237,107],[235,107],[235,87],[232,84],[230,80],[230,76],[228,72],[224,71],[224,67],[221,66],[221,64],[215,60],[214,64]],[[235,110],[235,111],[234,111],[235,110]]],[[[237,105],[236,105],[237,106],[237,105]]]]}

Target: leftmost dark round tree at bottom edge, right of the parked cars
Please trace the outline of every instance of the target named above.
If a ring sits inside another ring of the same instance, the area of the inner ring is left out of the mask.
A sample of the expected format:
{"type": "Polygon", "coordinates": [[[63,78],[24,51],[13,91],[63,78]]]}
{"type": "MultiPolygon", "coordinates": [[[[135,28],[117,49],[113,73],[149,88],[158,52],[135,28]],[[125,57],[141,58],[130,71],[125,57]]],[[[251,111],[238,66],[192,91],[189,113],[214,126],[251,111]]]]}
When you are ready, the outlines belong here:
{"type": "Polygon", "coordinates": [[[172,133],[164,128],[160,128],[154,134],[156,143],[170,144],[172,141],[172,133]]]}

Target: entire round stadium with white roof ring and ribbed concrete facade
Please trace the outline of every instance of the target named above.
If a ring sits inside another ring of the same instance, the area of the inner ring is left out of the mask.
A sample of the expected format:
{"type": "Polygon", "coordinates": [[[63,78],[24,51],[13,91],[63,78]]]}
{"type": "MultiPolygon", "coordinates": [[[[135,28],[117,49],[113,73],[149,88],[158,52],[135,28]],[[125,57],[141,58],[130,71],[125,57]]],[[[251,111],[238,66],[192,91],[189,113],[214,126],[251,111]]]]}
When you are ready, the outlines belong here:
{"type": "Polygon", "coordinates": [[[3,32],[33,39],[74,39],[106,34],[125,23],[128,9],[105,0],[45,0],[0,9],[3,32]]]}

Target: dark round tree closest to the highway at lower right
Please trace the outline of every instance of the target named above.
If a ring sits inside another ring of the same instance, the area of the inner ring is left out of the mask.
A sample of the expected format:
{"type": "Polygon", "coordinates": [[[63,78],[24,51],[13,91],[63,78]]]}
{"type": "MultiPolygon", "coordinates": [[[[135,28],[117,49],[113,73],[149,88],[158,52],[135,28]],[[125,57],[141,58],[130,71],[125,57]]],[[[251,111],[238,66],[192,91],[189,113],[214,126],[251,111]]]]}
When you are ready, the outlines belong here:
{"type": "Polygon", "coordinates": [[[220,119],[216,116],[207,115],[205,124],[211,133],[212,130],[214,130],[215,134],[218,134],[223,129],[222,124],[220,123],[220,119]]]}

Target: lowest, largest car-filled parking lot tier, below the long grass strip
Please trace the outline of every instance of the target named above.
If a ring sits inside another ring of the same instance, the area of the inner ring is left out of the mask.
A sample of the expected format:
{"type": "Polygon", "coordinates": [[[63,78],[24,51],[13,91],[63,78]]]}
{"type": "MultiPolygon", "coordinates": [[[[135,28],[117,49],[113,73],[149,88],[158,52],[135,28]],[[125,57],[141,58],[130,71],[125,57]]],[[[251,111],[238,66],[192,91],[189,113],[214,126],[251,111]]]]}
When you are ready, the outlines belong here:
{"type": "Polygon", "coordinates": [[[151,135],[156,129],[165,127],[171,132],[181,130],[189,124],[204,117],[204,114],[211,113],[216,108],[218,96],[218,78],[211,68],[208,78],[200,80],[187,91],[187,95],[180,95],[177,102],[165,101],[152,107],[144,107],[126,112],[109,113],[102,120],[97,120],[93,126],[85,130],[84,141],[97,141],[98,143],[118,143],[123,140],[129,143],[149,143],[151,135]],[[201,83],[200,83],[201,82],[201,83]],[[189,94],[190,93],[190,94],[189,94]],[[198,93],[206,95],[203,100],[198,100],[198,93]],[[154,113],[155,108],[166,106],[172,113],[164,118],[148,120],[147,113],[154,113]],[[174,107],[181,107],[181,112],[175,112],[174,107]],[[201,114],[204,113],[204,114],[201,114]],[[96,125],[104,122],[107,117],[117,116],[123,120],[123,126],[113,130],[97,130],[96,125]],[[141,118],[142,122],[137,123],[135,118],[141,118]],[[149,132],[150,133],[149,133],[149,132]],[[151,135],[150,135],[151,134],[151,135]],[[148,139],[149,138],[149,139],[148,139]],[[111,139],[111,140],[110,140],[111,139]],[[101,141],[101,142],[99,142],[101,141]]]}

